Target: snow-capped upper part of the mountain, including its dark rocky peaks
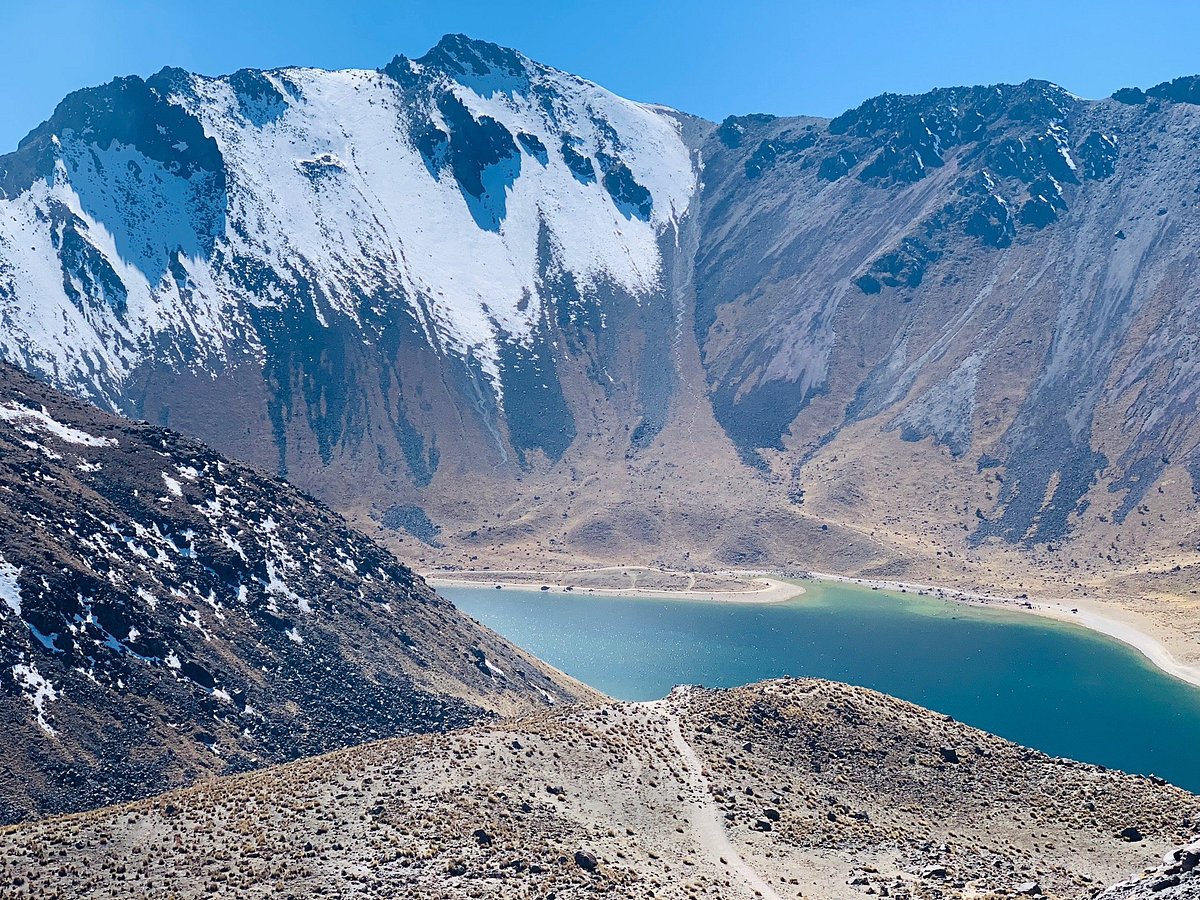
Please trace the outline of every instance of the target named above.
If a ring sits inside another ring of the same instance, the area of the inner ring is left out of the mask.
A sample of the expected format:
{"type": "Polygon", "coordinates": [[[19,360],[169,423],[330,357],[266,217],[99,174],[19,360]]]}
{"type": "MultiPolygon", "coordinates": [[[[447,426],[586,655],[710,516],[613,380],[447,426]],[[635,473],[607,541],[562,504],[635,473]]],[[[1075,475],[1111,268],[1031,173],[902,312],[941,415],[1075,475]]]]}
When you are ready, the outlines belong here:
{"type": "Polygon", "coordinates": [[[550,320],[660,296],[695,187],[668,113],[463,37],[382,71],[118,79],[0,166],[0,352],[121,408],[161,366],[276,368],[305,329],[420,343],[497,408],[554,391],[550,320]]]}

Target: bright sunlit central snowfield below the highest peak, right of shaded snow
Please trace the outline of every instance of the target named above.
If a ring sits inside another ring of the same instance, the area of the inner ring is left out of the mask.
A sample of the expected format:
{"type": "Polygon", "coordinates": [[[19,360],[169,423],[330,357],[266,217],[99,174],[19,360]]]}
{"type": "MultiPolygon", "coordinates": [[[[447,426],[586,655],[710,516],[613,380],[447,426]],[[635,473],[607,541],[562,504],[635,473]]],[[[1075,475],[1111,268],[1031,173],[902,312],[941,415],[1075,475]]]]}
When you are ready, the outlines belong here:
{"type": "Polygon", "coordinates": [[[535,277],[542,222],[560,264],[584,289],[611,278],[631,294],[650,295],[661,274],[658,234],[678,221],[695,190],[676,122],[581,79],[533,64],[530,70],[535,79],[552,82],[556,122],[532,96],[497,92],[485,100],[452,88],[476,118],[490,115],[547,148],[545,167],[522,152],[498,232],[475,223],[452,175],[430,174],[409,139],[406,97],[388,76],[308,68],[266,73],[282,94],[299,89],[299,97],[262,127],[240,116],[228,80],[194,77],[203,102],[192,112],[217,142],[230,176],[226,240],[275,271],[299,263],[350,317],[355,288],[370,294],[388,287],[380,277],[394,278],[391,287],[428,304],[433,320],[426,328],[458,353],[472,352],[493,380],[493,322],[523,340],[541,316],[535,277]],[[593,121],[598,113],[620,134],[622,158],[654,197],[650,222],[626,218],[599,180],[581,184],[562,158],[564,131],[583,142],[584,154],[614,150],[604,146],[593,121]],[[323,173],[318,178],[307,174],[314,163],[323,173]]]}

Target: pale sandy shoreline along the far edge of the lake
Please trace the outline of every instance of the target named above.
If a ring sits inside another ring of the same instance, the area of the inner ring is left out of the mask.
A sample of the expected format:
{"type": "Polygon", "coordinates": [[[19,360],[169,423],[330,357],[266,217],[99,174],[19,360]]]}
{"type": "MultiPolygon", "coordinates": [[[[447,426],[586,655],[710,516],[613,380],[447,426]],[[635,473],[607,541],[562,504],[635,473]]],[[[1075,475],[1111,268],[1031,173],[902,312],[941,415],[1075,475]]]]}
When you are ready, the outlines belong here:
{"type": "MultiPolygon", "coordinates": [[[[624,566],[613,566],[622,569],[624,566]]],[[[634,568],[634,566],[629,566],[634,568]]],[[[542,590],[545,593],[562,594],[604,594],[608,596],[642,598],[656,600],[677,601],[703,601],[703,602],[733,602],[733,604],[775,604],[786,602],[802,596],[805,592],[799,584],[781,580],[776,574],[757,570],[740,570],[721,572],[732,577],[748,580],[758,587],[746,590],[688,590],[673,588],[622,588],[622,587],[581,587],[575,584],[551,583],[548,580],[538,577],[536,572],[521,572],[520,578],[514,578],[517,572],[497,572],[496,577],[487,577],[490,572],[482,570],[439,571],[425,574],[425,580],[434,588],[438,587],[473,587],[487,588],[500,586],[502,589],[514,590],[542,590]]],[[[894,593],[912,593],[924,596],[934,596],[965,606],[991,607],[1010,610],[1037,616],[1043,619],[1051,619],[1067,624],[1079,625],[1105,637],[1114,638],[1127,647],[1138,650],[1153,666],[1166,674],[1182,682],[1200,688],[1200,666],[1189,666],[1180,662],[1170,650],[1152,634],[1139,628],[1136,624],[1114,617],[1100,604],[1092,600],[1030,600],[1024,596],[1001,596],[995,594],[974,594],[954,588],[938,587],[936,584],[918,584],[900,581],[881,581],[874,578],[856,578],[846,575],[834,575],[829,572],[806,572],[803,576],[808,580],[827,583],[854,584],[894,593]]]]}

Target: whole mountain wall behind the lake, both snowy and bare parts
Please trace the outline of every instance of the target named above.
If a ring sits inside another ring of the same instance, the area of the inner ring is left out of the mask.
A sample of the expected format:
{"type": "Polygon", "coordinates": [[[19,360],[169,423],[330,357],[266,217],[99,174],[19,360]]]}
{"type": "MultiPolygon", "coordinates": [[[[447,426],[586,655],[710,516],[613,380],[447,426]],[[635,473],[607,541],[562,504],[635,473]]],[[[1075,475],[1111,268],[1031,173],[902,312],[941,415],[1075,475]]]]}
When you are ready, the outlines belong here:
{"type": "Polygon", "coordinates": [[[0,353],[446,562],[1187,569],[1198,130],[1194,79],[715,125],[462,36],[164,70],[0,157],[0,353]]]}

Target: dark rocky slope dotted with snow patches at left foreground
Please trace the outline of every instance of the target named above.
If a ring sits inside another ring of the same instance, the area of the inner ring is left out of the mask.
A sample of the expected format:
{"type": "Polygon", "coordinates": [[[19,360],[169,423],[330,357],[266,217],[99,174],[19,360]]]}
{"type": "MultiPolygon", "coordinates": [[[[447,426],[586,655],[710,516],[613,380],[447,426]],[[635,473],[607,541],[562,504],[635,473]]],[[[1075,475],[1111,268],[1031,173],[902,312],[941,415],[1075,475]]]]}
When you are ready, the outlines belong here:
{"type": "Polygon", "coordinates": [[[284,481],[0,364],[0,821],[578,696],[284,481]]]}

